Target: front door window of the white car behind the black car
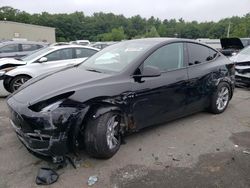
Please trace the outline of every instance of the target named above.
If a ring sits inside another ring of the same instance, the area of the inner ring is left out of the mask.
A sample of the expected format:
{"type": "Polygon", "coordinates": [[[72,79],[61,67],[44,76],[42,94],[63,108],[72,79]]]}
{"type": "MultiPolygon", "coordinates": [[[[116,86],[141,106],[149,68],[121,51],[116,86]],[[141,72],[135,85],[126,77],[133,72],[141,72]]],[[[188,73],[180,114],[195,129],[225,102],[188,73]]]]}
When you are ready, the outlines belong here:
{"type": "Polygon", "coordinates": [[[66,59],[73,59],[73,49],[61,49],[55,52],[52,52],[45,56],[48,60],[47,61],[59,61],[59,60],[66,60],[66,59]]]}

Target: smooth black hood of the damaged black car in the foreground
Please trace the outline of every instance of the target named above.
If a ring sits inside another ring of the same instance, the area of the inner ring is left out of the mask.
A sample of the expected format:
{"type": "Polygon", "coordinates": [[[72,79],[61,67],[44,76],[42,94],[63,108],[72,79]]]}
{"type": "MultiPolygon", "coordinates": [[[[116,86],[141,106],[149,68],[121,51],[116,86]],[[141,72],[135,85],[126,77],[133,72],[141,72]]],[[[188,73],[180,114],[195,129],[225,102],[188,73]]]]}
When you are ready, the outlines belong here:
{"type": "Polygon", "coordinates": [[[51,97],[93,85],[93,82],[110,76],[110,74],[86,71],[78,67],[68,68],[31,79],[10,98],[23,104],[33,105],[51,97]]]}

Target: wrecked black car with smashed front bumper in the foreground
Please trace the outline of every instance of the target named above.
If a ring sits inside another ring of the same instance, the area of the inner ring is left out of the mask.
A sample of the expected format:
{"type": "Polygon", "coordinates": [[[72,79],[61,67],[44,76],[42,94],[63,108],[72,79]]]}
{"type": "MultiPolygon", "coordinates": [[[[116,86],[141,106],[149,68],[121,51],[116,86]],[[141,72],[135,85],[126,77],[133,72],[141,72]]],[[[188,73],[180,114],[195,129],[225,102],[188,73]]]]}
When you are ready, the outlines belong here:
{"type": "Polygon", "coordinates": [[[234,91],[234,65],[186,39],[137,39],[83,64],[33,79],[8,98],[11,124],[31,151],[60,161],[84,146],[110,158],[128,132],[205,109],[222,113],[234,91]]]}

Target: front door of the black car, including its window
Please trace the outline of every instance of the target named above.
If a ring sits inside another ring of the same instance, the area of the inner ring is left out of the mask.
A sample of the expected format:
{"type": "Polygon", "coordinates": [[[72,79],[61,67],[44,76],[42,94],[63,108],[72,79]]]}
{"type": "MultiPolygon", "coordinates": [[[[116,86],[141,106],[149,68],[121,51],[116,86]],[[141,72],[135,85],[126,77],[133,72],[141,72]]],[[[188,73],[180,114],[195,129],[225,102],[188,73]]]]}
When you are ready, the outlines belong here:
{"type": "Polygon", "coordinates": [[[182,116],[186,105],[187,69],[183,43],[160,47],[141,65],[161,70],[159,77],[133,82],[133,117],[138,129],[182,116]]]}

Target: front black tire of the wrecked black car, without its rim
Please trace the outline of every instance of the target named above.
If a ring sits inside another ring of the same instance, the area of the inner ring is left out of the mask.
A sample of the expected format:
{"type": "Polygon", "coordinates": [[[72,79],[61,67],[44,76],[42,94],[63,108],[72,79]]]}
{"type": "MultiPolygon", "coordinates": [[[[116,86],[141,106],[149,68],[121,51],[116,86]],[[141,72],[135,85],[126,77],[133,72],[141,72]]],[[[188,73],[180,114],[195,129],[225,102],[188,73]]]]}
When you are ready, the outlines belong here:
{"type": "Polygon", "coordinates": [[[87,122],[86,129],[84,131],[84,142],[86,152],[95,158],[111,158],[120,148],[121,134],[120,134],[120,122],[121,116],[118,112],[108,112],[101,115],[97,119],[90,119],[87,122]],[[115,127],[114,137],[117,144],[114,144],[114,148],[110,148],[108,144],[108,127],[109,123],[115,118],[114,121],[118,122],[115,127]]]}

